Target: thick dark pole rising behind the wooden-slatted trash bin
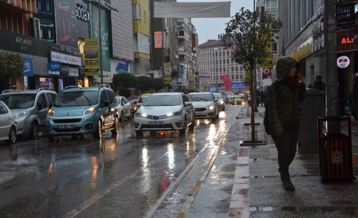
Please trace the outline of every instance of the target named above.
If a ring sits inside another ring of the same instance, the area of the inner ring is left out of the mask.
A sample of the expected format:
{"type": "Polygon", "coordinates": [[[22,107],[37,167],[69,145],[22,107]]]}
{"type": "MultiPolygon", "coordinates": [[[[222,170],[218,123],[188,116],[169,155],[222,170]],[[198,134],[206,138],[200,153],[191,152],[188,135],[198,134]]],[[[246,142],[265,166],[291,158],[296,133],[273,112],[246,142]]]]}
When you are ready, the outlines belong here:
{"type": "MultiPolygon", "coordinates": [[[[325,0],[324,2],[327,116],[339,116],[335,4],[336,1],[332,0],[325,0]]],[[[340,133],[339,123],[327,122],[327,131],[328,133],[340,133]]]]}

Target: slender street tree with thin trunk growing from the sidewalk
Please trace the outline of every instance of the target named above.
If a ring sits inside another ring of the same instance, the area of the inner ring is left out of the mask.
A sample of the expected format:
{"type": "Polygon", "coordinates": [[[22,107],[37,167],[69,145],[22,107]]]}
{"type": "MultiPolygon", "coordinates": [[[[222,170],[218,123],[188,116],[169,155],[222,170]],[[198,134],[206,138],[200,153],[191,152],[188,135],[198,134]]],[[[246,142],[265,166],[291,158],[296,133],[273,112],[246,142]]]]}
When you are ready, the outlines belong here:
{"type": "MultiPolygon", "coordinates": [[[[252,12],[241,8],[241,11],[226,23],[224,46],[233,50],[232,58],[244,68],[250,69],[250,95],[254,88],[254,66],[263,61],[267,48],[274,42],[274,35],[282,27],[282,22],[267,12],[252,12]]],[[[256,73],[256,72],[255,72],[256,73]]],[[[255,98],[251,98],[252,143],[255,143],[255,98]]]]}

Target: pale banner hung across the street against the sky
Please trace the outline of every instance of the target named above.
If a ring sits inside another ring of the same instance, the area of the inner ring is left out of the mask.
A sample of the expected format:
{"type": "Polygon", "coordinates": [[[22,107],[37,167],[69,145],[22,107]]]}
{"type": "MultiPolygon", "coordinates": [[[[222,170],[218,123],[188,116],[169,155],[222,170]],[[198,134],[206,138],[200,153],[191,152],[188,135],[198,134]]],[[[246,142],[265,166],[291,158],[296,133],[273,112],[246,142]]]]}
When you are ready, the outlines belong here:
{"type": "Polygon", "coordinates": [[[177,3],[154,2],[155,18],[230,17],[231,2],[177,3]]]}

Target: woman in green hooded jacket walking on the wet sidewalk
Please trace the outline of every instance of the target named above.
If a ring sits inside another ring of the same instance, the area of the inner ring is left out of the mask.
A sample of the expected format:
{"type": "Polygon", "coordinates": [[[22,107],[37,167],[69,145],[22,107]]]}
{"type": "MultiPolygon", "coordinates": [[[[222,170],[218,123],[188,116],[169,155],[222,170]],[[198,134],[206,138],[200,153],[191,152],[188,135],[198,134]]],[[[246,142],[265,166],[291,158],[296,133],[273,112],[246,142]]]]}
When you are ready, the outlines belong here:
{"type": "Polygon", "coordinates": [[[306,95],[306,85],[297,71],[299,63],[288,56],[277,61],[278,99],[275,87],[268,88],[269,128],[278,156],[278,171],[285,190],[294,191],[289,166],[296,155],[300,132],[301,103],[306,95]]]}

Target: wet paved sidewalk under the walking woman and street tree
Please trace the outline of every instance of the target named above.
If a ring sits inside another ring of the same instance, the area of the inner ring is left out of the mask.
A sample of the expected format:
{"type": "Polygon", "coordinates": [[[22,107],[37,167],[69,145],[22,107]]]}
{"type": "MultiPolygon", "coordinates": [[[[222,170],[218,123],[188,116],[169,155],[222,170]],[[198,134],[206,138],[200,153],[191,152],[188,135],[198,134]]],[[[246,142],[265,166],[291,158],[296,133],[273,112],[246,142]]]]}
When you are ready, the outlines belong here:
{"type": "MultiPolygon", "coordinates": [[[[239,146],[239,141],[251,141],[251,127],[244,125],[250,123],[250,108],[243,107],[206,179],[193,194],[185,217],[358,217],[358,178],[349,183],[322,183],[318,153],[296,153],[290,166],[296,191],[282,188],[277,150],[263,125],[265,108],[258,110],[255,113],[255,122],[260,123],[255,126],[257,140],[265,141],[266,145],[239,146]]],[[[347,127],[341,129],[344,133],[347,127]]],[[[353,175],[357,177],[358,125],[355,122],[351,133],[353,175]]]]}

